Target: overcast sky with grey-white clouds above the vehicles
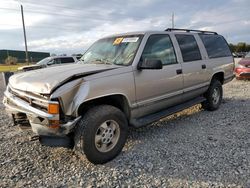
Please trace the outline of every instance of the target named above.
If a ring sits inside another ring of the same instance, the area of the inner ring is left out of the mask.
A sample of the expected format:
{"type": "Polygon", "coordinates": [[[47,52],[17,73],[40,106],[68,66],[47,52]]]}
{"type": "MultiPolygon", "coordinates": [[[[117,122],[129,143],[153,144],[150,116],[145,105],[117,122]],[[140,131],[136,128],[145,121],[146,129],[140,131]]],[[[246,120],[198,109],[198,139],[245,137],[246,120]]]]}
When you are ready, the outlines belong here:
{"type": "Polygon", "coordinates": [[[0,0],[0,49],[82,53],[113,33],[176,28],[217,31],[230,43],[250,43],[250,0],[0,0]]]}

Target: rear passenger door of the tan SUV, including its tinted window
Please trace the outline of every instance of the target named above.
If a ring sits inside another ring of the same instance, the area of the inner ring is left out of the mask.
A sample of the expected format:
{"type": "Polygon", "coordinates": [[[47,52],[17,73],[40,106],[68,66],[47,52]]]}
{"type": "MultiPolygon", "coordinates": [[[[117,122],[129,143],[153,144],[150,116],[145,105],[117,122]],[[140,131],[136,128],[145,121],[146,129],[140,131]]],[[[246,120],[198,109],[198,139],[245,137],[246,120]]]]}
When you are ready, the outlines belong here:
{"type": "Polygon", "coordinates": [[[193,34],[175,34],[181,52],[183,100],[202,94],[207,88],[207,65],[193,34]]]}

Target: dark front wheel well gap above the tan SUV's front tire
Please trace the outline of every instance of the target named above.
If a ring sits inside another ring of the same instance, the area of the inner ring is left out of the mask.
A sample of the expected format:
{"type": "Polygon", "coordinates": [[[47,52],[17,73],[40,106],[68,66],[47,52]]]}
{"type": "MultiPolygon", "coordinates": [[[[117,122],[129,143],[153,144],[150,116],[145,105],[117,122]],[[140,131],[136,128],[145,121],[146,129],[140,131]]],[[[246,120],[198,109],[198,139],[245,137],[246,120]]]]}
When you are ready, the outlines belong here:
{"type": "Polygon", "coordinates": [[[123,95],[111,95],[111,96],[105,96],[97,99],[93,99],[87,102],[84,102],[80,105],[78,108],[78,114],[84,114],[86,113],[90,108],[101,105],[101,104],[107,104],[114,106],[116,108],[119,108],[129,119],[130,117],[130,109],[129,109],[129,104],[127,101],[127,98],[123,95]]]}

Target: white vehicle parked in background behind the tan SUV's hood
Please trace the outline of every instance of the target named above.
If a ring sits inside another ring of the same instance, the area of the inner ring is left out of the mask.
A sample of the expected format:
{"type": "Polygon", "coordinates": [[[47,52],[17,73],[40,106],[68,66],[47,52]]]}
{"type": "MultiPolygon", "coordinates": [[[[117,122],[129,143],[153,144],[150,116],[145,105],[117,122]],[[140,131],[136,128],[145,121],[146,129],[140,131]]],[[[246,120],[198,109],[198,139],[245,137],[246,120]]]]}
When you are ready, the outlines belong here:
{"type": "Polygon", "coordinates": [[[19,67],[19,71],[29,71],[35,69],[41,69],[49,66],[57,66],[57,65],[64,65],[67,63],[75,63],[77,62],[77,57],[74,56],[51,56],[42,59],[41,61],[37,62],[35,65],[27,65],[23,67],[19,67]]]}

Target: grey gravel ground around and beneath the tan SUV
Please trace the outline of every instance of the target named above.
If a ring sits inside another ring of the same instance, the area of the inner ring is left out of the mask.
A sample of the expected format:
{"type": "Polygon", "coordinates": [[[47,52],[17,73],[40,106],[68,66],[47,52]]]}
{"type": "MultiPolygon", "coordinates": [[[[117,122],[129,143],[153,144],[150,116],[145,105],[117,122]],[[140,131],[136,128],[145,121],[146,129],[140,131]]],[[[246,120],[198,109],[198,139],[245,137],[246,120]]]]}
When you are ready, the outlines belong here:
{"type": "Polygon", "coordinates": [[[219,110],[197,105],[131,129],[117,158],[93,165],[30,142],[0,104],[0,187],[250,187],[249,114],[250,81],[234,80],[219,110]]]}

